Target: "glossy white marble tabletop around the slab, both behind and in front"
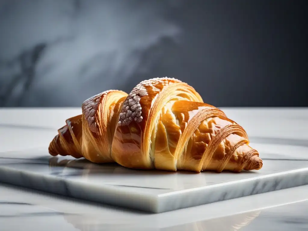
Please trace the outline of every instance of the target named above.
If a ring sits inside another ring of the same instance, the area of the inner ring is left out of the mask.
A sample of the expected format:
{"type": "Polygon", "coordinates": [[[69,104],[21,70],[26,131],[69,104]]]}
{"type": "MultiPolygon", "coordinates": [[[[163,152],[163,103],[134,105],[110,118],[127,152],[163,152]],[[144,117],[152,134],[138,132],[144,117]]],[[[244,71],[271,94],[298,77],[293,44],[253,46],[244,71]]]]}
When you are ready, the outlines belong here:
{"type": "MultiPolygon", "coordinates": [[[[308,109],[223,110],[246,129],[266,159],[307,161],[308,109]]],[[[0,109],[0,152],[46,147],[55,129],[79,112],[0,109]]],[[[148,214],[0,184],[1,231],[308,230],[307,211],[308,185],[148,214]]]]}

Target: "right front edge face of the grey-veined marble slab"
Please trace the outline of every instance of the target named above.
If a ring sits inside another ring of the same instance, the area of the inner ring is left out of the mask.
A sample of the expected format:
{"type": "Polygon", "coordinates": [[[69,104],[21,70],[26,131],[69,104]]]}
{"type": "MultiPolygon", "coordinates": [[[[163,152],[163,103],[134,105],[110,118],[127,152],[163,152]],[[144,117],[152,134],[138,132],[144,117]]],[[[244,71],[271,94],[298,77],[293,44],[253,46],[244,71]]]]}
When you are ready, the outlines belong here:
{"type": "Polygon", "coordinates": [[[158,195],[160,199],[157,209],[159,212],[167,212],[305,184],[308,184],[308,168],[300,168],[200,188],[162,193],[158,195]],[[181,201],[181,204],[174,203],[175,200],[181,201]]]}

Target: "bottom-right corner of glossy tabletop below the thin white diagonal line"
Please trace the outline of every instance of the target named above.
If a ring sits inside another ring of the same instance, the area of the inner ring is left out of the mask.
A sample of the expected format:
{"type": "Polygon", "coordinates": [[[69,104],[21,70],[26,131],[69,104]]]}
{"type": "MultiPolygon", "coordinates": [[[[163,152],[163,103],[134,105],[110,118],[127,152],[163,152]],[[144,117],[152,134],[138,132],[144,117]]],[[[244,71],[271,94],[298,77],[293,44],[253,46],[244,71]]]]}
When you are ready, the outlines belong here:
{"type": "Polygon", "coordinates": [[[308,230],[308,200],[211,220],[160,229],[164,231],[308,230]]]}

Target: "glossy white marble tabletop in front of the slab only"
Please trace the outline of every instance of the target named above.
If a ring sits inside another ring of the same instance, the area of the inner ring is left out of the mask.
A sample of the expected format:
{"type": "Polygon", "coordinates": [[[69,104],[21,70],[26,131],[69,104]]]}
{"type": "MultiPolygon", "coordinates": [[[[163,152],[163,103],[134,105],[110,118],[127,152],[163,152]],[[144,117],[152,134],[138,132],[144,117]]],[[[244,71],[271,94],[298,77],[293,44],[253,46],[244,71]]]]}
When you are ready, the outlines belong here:
{"type": "Polygon", "coordinates": [[[2,231],[307,230],[308,185],[148,214],[0,184],[2,231]]]}

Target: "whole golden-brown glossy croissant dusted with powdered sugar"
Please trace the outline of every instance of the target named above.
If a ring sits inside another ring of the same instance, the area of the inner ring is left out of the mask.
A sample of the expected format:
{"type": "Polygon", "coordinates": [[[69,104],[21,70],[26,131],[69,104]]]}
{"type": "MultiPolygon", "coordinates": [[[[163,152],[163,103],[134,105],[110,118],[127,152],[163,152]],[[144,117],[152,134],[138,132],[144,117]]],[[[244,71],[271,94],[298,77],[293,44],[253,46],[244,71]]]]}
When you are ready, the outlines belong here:
{"type": "Polygon", "coordinates": [[[144,80],[130,94],[109,90],[85,100],[49,153],[133,169],[241,172],[263,165],[240,125],[167,77],[144,80]]]}

